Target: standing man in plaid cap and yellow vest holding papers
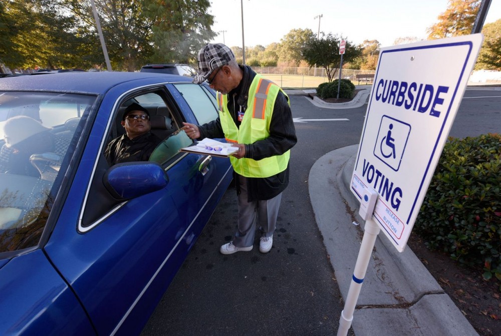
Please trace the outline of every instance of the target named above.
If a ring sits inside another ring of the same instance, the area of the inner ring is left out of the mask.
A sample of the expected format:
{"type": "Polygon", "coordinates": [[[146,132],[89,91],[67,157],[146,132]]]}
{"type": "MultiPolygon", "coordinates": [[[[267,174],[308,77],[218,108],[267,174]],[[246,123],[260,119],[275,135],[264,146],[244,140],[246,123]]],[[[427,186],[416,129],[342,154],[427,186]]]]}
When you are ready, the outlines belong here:
{"type": "Polygon", "coordinates": [[[191,139],[226,138],[238,151],[230,156],[235,172],[238,222],[233,240],[222,254],[253,249],[256,230],[259,250],[273,245],[282,192],[289,184],[290,150],[296,144],[289,97],[275,83],[238,65],[227,46],[207,44],[198,52],[193,83],[207,81],[217,91],[219,116],[204,125],[183,123],[191,139]]]}

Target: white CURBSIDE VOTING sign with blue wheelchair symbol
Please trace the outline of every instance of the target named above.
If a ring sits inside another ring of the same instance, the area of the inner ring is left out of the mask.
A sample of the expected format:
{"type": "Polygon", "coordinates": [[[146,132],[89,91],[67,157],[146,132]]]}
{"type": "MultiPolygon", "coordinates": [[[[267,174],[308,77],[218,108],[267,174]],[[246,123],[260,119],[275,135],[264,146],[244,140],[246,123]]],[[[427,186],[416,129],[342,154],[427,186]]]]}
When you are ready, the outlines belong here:
{"type": "Polygon", "coordinates": [[[382,48],[351,190],[378,193],[372,219],[402,252],[466,89],[483,37],[382,48]]]}

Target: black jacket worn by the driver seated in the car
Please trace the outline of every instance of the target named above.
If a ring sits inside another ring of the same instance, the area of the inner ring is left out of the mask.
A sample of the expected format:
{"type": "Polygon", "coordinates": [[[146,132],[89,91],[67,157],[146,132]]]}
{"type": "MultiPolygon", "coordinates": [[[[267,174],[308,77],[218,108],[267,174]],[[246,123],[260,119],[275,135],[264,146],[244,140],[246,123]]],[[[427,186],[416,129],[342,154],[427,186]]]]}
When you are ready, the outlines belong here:
{"type": "Polygon", "coordinates": [[[129,139],[127,134],[113,139],[106,147],[104,155],[108,164],[114,165],[122,162],[148,161],[156,146],[162,140],[148,132],[129,139]]]}

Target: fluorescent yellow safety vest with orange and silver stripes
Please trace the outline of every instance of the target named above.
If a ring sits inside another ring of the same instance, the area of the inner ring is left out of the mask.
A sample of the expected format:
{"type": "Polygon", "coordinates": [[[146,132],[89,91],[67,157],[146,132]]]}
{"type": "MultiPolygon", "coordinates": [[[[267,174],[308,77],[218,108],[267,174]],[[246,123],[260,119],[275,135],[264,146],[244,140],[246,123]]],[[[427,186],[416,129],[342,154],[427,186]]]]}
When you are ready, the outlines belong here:
{"type": "MultiPolygon", "coordinates": [[[[282,89],[275,83],[256,75],[250,84],[247,109],[243,115],[240,128],[236,127],[227,104],[227,95],[217,93],[219,120],[228,142],[252,144],[266,139],[270,135],[270,122],[278,93],[282,89]]],[[[285,94],[284,91],[282,91],[285,94]]],[[[286,95],[287,97],[287,95],[286,95]]],[[[287,97],[288,98],[288,97],[287,97]]],[[[289,103],[290,105],[291,103],[289,103]]],[[[237,111],[235,111],[235,114],[237,111]]],[[[287,168],[291,151],[262,160],[229,157],[233,170],[245,177],[270,177],[287,168]]]]}

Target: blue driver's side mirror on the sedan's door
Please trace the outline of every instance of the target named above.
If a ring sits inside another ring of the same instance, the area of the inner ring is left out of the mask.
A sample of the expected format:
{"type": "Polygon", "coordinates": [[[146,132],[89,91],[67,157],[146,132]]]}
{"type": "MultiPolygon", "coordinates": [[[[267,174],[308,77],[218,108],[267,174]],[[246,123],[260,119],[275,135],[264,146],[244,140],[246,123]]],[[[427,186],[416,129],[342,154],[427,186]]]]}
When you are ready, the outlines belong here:
{"type": "Polygon", "coordinates": [[[126,200],[165,188],[169,177],[158,163],[126,162],[108,169],[103,182],[113,197],[126,200]]]}

